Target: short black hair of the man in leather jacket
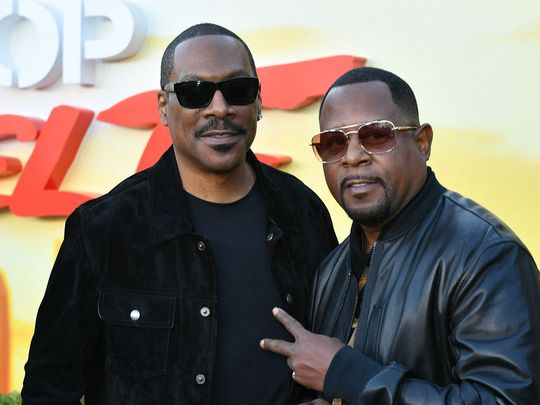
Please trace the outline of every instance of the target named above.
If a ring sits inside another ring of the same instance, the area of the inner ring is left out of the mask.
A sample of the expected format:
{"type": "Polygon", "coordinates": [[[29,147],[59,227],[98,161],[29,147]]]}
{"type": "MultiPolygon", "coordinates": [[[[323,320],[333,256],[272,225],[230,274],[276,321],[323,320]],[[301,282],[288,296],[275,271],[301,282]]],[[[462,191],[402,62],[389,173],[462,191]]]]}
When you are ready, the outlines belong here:
{"type": "Polygon", "coordinates": [[[374,67],[356,68],[341,75],[334,82],[334,84],[330,86],[322,98],[321,106],[319,108],[319,118],[321,117],[322,107],[326,101],[326,97],[328,96],[328,93],[330,93],[330,90],[332,90],[334,87],[374,81],[385,83],[390,89],[390,94],[392,95],[392,100],[394,103],[408,118],[413,121],[412,124],[420,125],[420,119],[418,117],[418,105],[411,87],[405,80],[394,73],[374,67]]]}

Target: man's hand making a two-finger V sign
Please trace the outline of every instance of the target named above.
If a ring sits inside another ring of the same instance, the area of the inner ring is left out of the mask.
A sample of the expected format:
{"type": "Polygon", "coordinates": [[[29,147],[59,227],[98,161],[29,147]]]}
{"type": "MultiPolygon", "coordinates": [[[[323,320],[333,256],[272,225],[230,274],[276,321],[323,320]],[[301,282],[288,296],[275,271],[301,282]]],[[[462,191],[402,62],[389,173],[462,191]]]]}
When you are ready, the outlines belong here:
{"type": "Polygon", "coordinates": [[[293,335],[295,342],[263,339],[261,347],[287,356],[287,364],[293,370],[294,380],[322,392],[330,362],[344,344],[338,339],[307,331],[300,322],[280,308],[274,308],[272,314],[293,335]]]}

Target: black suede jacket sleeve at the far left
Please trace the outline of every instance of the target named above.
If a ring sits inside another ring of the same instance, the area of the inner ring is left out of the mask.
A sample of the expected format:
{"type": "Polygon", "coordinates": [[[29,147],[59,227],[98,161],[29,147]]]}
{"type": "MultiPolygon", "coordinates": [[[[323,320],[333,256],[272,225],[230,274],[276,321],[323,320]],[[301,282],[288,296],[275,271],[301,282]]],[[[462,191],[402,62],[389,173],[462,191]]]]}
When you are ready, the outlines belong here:
{"type": "Polygon", "coordinates": [[[77,211],[41,302],[21,392],[23,403],[80,404],[98,339],[97,299],[77,211]]]}

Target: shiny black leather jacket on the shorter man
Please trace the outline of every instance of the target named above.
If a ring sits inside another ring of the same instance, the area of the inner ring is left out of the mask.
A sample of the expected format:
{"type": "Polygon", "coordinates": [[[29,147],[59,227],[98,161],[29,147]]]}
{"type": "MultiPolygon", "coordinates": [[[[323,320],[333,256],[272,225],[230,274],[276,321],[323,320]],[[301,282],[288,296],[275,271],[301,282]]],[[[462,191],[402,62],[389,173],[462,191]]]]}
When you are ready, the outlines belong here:
{"type": "MultiPolygon", "coordinates": [[[[350,241],[322,263],[311,314],[315,332],[342,341],[358,292],[350,241]]],[[[540,403],[540,281],[527,249],[429,171],[375,244],[355,347],[333,359],[324,394],[352,404],[540,403]]]]}

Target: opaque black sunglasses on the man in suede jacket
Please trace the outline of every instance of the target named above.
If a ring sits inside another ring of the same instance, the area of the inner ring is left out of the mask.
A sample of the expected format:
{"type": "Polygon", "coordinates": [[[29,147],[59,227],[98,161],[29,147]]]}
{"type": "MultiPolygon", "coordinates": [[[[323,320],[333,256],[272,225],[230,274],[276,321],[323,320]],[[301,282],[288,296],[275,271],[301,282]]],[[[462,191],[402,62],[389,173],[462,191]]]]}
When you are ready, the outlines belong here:
{"type": "Polygon", "coordinates": [[[256,77],[237,77],[222,82],[191,80],[168,83],[163,87],[168,93],[176,93],[178,102],[184,108],[203,108],[214,98],[216,90],[221,91],[230,105],[248,105],[257,99],[259,79],[256,77]]]}

